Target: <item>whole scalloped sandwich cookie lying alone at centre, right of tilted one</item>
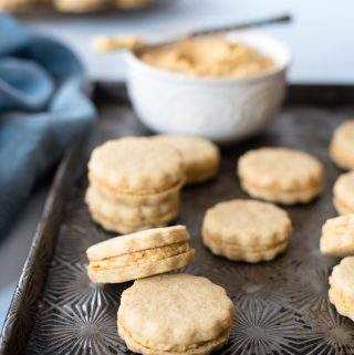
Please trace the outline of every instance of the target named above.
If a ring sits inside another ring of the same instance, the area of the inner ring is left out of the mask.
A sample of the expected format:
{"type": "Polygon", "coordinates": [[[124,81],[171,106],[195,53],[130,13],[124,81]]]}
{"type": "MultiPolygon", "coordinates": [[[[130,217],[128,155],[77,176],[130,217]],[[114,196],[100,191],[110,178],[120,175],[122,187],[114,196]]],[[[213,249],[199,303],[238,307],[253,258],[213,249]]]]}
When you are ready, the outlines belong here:
{"type": "Polygon", "coordinates": [[[292,223],[281,208],[254,200],[230,200],[207,210],[204,244],[230,260],[259,262],[274,259],[289,243],[292,223]]]}

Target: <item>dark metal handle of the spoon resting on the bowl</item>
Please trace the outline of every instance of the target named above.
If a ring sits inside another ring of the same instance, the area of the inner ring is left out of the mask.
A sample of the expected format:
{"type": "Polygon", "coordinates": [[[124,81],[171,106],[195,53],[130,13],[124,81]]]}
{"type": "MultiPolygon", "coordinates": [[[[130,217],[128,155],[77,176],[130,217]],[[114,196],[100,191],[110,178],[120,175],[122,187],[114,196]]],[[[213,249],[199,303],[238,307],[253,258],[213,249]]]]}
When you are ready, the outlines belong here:
{"type": "Polygon", "coordinates": [[[235,30],[251,29],[251,28],[275,24],[275,23],[285,23],[285,22],[290,22],[290,21],[291,21],[291,17],[289,14],[284,14],[284,15],[264,19],[264,20],[247,21],[243,23],[228,24],[228,25],[223,25],[223,27],[196,30],[196,31],[189,32],[188,38],[207,35],[207,34],[215,34],[215,33],[222,33],[222,32],[230,32],[230,31],[235,31],[235,30]]]}

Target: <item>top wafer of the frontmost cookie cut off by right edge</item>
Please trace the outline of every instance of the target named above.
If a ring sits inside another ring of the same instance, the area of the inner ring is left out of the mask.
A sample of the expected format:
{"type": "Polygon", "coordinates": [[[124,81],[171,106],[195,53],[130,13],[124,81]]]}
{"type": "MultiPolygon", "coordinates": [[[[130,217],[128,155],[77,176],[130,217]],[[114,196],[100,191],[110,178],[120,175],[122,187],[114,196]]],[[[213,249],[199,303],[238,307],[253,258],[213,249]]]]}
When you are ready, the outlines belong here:
{"type": "Polygon", "coordinates": [[[342,259],[341,263],[333,268],[330,285],[340,294],[354,300],[354,257],[342,259]]]}

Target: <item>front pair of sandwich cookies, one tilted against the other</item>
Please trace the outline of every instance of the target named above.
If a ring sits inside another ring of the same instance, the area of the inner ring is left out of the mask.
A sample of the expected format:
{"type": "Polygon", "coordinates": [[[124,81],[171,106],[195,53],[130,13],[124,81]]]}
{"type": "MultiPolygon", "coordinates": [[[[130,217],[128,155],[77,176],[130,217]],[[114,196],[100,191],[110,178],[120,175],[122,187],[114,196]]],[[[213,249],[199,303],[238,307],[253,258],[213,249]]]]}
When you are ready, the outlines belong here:
{"type": "Polygon", "coordinates": [[[93,282],[135,280],[122,293],[117,312],[118,334],[131,351],[207,355],[228,342],[235,305],[226,291],[206,278],[166,273],[194,257],[184,226],[116,237],[87,249],[93,282]]]}

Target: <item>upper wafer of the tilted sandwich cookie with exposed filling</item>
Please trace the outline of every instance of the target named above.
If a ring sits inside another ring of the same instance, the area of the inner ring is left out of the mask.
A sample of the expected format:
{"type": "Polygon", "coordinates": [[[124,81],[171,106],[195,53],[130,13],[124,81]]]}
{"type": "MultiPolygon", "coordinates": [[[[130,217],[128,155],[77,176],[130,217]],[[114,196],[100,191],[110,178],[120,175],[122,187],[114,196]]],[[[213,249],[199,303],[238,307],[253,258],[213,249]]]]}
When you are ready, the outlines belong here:
{"type": "Polygon", "coordinates": [[[108,239],[90,247],[86,253],[90,261],[95,261],[188,240],[185,226],[154,228],[108,239]]]}

